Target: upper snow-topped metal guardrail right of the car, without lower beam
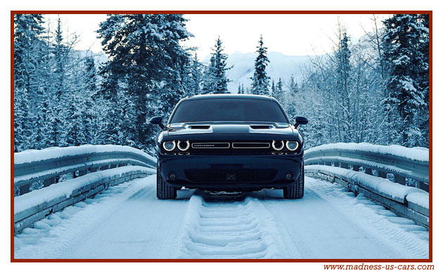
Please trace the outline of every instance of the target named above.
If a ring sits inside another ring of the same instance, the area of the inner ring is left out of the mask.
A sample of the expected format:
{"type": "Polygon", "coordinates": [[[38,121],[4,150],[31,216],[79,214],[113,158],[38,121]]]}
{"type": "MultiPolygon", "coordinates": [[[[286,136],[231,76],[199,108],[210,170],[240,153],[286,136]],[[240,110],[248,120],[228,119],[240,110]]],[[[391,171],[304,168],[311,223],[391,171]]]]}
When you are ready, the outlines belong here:
{"type": "Polygon", "coordinates": [[[373,144],[326,144],[304,152],[305,165],[340,165],[366,174],[387,178],[393,174],[394,182],[406,184],[413,179],[418,189],[429,192],[429,151],[423,148],[380,146],[373,144]]]}

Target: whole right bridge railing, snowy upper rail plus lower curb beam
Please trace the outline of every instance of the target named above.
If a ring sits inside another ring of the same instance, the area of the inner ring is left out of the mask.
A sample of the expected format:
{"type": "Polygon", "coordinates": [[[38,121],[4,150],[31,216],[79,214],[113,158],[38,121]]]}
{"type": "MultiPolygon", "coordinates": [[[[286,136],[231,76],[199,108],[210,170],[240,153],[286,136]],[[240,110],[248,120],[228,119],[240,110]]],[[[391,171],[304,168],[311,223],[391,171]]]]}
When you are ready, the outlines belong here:
{"type": "Polygon", "coordinates": [[[326,144],[305,151],[304,164],[307,176],[338,183],[429,227],[427,148],[326,144]]]}

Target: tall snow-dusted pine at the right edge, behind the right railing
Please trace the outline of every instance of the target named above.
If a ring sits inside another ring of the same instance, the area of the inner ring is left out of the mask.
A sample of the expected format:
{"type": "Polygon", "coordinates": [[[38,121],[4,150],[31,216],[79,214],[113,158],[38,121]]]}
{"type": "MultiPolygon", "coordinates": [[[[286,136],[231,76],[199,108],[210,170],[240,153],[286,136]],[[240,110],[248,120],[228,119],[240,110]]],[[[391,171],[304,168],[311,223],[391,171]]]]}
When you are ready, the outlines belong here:
{"type": "MultiPolygon", "coordinates": [[[[384,58],[389,66],[383,102],[394,132],[390,141],[404,146],[425,146],[423,113],[428,107],[428,35],[425,18],[417,14],[395,14],[384,22],[384,58]]],[[[426,127],[426,126],[425,126],[426,127]]]]}

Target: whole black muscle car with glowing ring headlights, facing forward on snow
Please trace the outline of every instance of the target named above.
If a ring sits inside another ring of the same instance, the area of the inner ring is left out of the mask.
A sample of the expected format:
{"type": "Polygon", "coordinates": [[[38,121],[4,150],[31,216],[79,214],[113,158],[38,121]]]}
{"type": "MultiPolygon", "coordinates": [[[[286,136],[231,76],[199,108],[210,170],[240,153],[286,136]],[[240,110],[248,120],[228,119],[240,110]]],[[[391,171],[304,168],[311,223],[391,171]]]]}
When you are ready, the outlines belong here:
{"type": "Polygon", "coordinates": [[[181,99],[157,143],[157,197],[176,198],[182,187],[207,191],[283,189],[304,193],[303,137],[276,99],[243,94],[181,99]]]}

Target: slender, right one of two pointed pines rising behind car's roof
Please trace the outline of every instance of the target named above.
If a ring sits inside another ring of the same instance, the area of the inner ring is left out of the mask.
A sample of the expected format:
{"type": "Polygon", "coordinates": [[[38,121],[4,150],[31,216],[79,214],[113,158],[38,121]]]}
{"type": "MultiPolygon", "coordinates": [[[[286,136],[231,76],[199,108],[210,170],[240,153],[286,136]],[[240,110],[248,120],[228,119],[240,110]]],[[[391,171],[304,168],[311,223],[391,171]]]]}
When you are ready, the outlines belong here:
{"type": "Polygon", "coordinates": [[[254,76],[252,76],[251,93],[258,95],[269,95],[269,77],[266,67],[269,63],[267,57],[268,48],[263,45],[263,37],[260,35],[259,45],[257,46],[258,56],[255,58],[254,76]]]}

